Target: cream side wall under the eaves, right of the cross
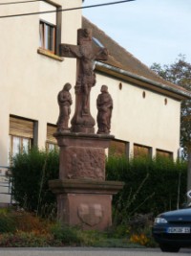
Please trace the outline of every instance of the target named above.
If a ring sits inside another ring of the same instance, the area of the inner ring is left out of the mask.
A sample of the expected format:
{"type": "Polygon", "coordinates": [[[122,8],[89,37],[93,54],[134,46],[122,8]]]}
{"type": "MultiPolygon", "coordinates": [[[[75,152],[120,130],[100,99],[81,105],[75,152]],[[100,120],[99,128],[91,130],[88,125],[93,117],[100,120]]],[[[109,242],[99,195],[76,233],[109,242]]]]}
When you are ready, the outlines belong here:
{"type": "MultiPolygon", "coordinates": [[[[180,147],[180,102],[152,91],[114,78],[96,75],[96,87],[92,89],[92,105],[102,84],[108,85],[113,97],[114,110],[111,133],[119,140],[172,151],[177,157],[180,147]],[[119,89],[119,82],[122,89],[119,89]],[[145,98],[142,97],[143,91],[145,98]],[[167,105],[164,104],[167,99],[167,105]]],[[[92,110],[96,118],[96,109],[92,110]]]]}

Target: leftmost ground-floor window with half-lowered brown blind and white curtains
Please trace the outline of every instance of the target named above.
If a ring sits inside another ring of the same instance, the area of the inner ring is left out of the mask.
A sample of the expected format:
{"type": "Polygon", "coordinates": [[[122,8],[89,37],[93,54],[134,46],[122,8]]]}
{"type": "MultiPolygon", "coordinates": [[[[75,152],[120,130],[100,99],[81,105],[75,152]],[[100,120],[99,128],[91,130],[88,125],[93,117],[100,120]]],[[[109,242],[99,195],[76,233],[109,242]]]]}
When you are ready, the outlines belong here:
{"type": "Polygon", "coordinates": [[[10,156],[19,152],[28,152],[33,144],[34,123],[31,120],[10,117],[10,156]]]}

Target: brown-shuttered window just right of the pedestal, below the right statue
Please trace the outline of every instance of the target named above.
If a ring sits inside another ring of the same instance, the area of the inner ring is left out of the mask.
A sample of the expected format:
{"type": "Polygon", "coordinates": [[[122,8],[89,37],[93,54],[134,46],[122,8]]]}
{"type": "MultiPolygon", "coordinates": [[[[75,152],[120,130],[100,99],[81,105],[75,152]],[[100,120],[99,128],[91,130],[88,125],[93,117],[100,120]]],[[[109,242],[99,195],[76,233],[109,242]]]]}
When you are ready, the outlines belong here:
{"type": "Polygon", "coordinates": [[[128,156],[129,144],[125,141],[113,140],[110,143],[109,155],[128,156]]]}

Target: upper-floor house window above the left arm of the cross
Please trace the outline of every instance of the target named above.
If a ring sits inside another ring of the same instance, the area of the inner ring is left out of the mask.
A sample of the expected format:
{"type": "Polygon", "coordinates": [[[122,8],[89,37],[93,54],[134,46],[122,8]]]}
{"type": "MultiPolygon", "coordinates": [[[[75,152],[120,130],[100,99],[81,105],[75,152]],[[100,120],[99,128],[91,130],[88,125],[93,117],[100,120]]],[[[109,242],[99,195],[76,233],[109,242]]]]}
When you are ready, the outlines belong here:
{"type": "Polygon", "coordinates": [[[55,30],[56,27],[45,21],[40,21],[40,47],[55,53],[55,30]]]}

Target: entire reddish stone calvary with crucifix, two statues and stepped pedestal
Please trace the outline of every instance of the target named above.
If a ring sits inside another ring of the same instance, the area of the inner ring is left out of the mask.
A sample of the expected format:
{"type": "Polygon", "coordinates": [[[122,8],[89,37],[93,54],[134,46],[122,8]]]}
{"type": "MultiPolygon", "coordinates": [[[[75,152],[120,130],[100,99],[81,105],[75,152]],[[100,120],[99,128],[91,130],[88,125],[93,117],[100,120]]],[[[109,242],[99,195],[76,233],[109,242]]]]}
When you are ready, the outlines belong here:
{"type": "Polygon", "coordinates": [[[84,229],[104,230],[112,224],[112,196],[123,187],[122,182],[105,180],[105,150],[114,139],[110,135],[113,100],[106,85],[96,101],[97,133],[90,113],[91,88],[96,85],[94,62],[106,60],[108,52],[93,47],[91,30],[79,29],[77,45],[61,44],[60,53],[77,58],[77,76],[71,128],[71,84],[66,83],[57,97],[60,112],[54,136],[60,148],[59,179],[49,182],[57,197],[57,218],[84,229]]]}

